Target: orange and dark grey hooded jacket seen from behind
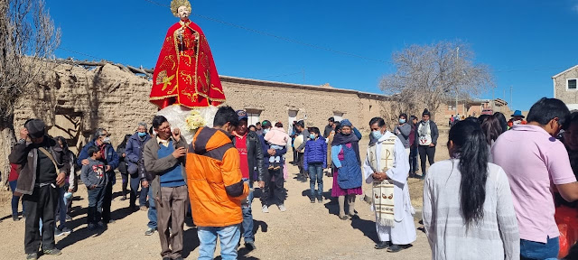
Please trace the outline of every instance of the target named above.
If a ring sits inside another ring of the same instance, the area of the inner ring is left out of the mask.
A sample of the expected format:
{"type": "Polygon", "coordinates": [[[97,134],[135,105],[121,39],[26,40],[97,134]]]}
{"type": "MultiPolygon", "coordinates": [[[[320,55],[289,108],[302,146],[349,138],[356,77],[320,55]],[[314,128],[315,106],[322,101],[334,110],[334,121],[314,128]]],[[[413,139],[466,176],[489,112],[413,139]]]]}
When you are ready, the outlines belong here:
{"type": "Polygon", "coordinates": [[[243,221],[241,200],[249,188],[231,135],[200,128],[187,153],[186,172],[192,218],[199,227],[227,227],[243,221]]]}

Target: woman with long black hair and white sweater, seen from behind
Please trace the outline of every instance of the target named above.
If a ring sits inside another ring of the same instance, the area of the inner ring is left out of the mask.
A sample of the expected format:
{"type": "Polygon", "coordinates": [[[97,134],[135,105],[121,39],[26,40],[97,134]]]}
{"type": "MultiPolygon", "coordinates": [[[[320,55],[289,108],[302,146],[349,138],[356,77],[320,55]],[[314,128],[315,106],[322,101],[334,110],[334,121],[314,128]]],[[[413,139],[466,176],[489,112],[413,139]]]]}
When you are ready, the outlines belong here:
{"type": "Polygon", "coordinates": [[[432,259],[519,259],[508,176],[488,163],[486,142],[480,124],[461,121],[450,129],[451,159],[428,171],[423,216],[432,259]]]}

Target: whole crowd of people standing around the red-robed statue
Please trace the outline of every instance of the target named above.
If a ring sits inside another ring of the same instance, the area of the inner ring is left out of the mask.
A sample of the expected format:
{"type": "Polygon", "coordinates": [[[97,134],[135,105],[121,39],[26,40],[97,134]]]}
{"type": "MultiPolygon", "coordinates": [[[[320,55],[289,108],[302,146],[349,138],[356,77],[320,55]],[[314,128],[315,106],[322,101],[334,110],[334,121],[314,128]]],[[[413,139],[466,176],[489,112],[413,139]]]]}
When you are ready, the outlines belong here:
{"type": "Polygon", "coordinates": [[[310,182],[311,203],[322,203],[323,192],[331,190],[340,219],[359,218],[356,199],[364,181],[371,186],[376,249],[395,253],[415,242],[407,181],[418,178],[424,180],[423,224],[433,259],[556,259],[556,207],[577,209],[578,112],[543,98],[527,121],[518,112],[512,117],[512,124],[501,113],[453,121],[450,159],[437,163],[440,130],[427,109],[419,122],[402,113],[391,130],[384,118],[372,118],[365,158],[358,128],[333,117],[323,132],[300,120],[287,134],[280,122],[247,125],[246,111],[219,107],[213,127],[200,127],[185,140],[167,118],[154,116],[150,129],[139,123],[117,149],[107,130],[96,129],[78,158],[64,138],[51,138],[42,120],[31,119],[9,156],[13,218],[19,220],[22,196],[27,259],[37,259],[39,248],[61,255],[54,237],[72,232],[66,220],[78,179],[88,190],[88,229],[107,228],[115,222],[110,205],[117,170],[121,200],[129,200],[131,210],[148,211],[144,235],[158,231],[163,260],[182,259],[189,217],[198,231],[199,259],[213,258],[217,239],[222,259],[237,259],[241,238],[248,250],[256,249],[257,187],[262,212],[272,205],[287,210],[285,155],[291,147],[298,181],[310,182]],[[324,172],[332,177],[330,189],[324,172]]]}

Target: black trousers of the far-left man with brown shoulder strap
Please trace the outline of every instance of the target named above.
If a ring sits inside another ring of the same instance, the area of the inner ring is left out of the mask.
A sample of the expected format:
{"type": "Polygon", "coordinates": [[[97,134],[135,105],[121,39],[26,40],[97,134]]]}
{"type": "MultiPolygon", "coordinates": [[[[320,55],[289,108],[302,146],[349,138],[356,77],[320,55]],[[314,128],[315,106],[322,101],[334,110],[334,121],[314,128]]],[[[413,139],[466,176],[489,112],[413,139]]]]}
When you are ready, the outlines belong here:
{"type": "Polygon", "coordinates": [[[32,195],[22,197],[24,216],[24,252],[37,253],[42,243],[42,250],[55,248],[54,242],[54,212],[58,205],[58,190],[51,185],[36,187],[32,195]],[[40,234],[40,218],[42,218],[42,237],[40,234]]]}

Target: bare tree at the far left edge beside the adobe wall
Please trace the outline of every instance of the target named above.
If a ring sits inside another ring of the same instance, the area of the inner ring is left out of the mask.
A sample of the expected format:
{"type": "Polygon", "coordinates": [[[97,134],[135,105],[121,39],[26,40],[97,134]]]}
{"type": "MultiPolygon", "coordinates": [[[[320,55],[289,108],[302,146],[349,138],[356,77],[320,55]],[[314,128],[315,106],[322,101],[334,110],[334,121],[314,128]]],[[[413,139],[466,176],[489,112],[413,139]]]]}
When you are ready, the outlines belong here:
{"type": "Polygon", "coordinates": [[[15,142],[14,106],[50,66],[44,60],[60,40],[61,31],[43,0],[0,1],[0,188],[6,186],[8,154],[15,142]]]}

